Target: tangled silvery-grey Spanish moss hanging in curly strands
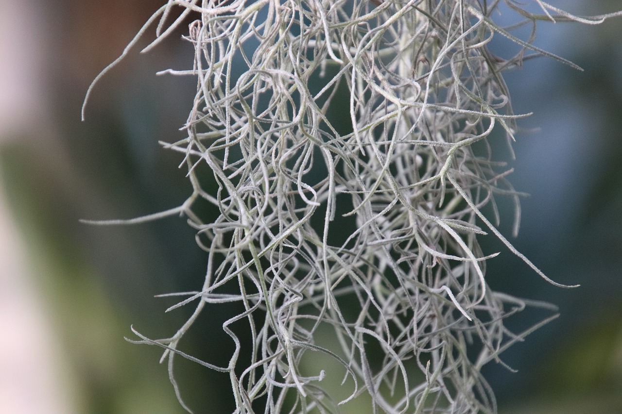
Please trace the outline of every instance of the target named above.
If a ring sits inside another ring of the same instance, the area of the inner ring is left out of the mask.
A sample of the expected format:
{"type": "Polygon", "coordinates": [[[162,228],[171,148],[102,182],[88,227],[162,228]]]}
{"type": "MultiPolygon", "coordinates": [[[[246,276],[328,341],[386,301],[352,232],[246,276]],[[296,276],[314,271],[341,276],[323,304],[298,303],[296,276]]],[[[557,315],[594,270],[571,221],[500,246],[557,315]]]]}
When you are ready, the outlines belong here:
{"type": "Polygon", "coordinates": [[[548,305],[490,290],[486,260],[497,253],[483,252],[480,237],[492,232],[542,278],[568,287],[497,229],[494,196],[514,200],[516,233],[521,194],[488,139],[495,131],[511,144],[526,116],[513,113],[502,73],[538,56],[577,68],[532,44],[537,21],[614,16],[527,3],[170,0],[149,19],[119,59],[155,22],[145,51],[198,17],[184,36],[193,67],[166,71],[197,77],[187,137],[163,144],[183,155],[193,192],[169,211],[95,223],[180,214],[197,229],[205,280],[177,293],[183,300],[171,308],[195,306],[192,317],[167,339],[134,330],[136,343],[165,349],[178,397],[173,363],[183,356],[228,374],[236,413],[337,412],[363,395],[374,413],[496,412],[481,367],[556,315],[522,333],[504,326],[526,306],[548,305]],[[496,24],[502,6],[521,21],[496,24]],[[513,34],[523,25],[533,29],[529,39],[513,34]],[[493,55],[496,36],[518,53],[493,55]],[[335,126],[338,117],[348,131],[335,126]],[[216,193],[200,183],[205,164],[216,193]],[[215,221],[197,213],[200,199],[218,207],[215,221]],[[346,220],[355,226],[334,242],[346,220]],[[180,350],[198,315],[223,302],[240,309],[222,326],[229,363],[180,350]],[[322,354],[335,364],[309,364],[322,354]],[[348,397],[322,387],[327,372],[348,397]]]}

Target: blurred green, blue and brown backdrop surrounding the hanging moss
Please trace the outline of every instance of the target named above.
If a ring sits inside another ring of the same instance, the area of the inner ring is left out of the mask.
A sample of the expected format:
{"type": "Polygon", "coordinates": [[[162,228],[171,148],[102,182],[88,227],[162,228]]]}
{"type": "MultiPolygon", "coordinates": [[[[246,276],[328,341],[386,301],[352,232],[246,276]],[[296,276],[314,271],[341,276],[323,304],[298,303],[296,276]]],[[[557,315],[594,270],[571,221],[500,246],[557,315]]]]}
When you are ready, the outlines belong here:
{"type": "MultiPolygon", "coordinates": [[[[140,45],[86,89],[162,0],[0,0],[0,413],[182,413],[160,350],[124,341],[134,326],[174,333],[187,312],[154,298],[196,290],[205,254],[183,219],[93,227],[179,205],[190,189],[180,157],[157,142],[182,138],[193,78],[182,32],[146,55],[140,45]]],[[[576,14],[615,0],[555,1],[576,14]]],[[[504,14],[496,16],[503,21],[504,14]]],[[[542,22],[536,44],[585,69],[540,58],[507,74],[516,113],[534,112],[516,142],[511,181],[522,201],[514,241],[552,287],[490,240],[493,288],[559,305],[561,316],[485,374],[508,414],[622,413],[622,18],[600,26],[542,22]]],[[[529,35],[529,33],[527,33],[529,35]]],[[[491,45],[503,56],[510,47],[491,45]]],[[[502,150],[503,146],[501,146],[502,150]]],[[[510,214],[502,224],[510,233],[510,214]]],[[[538,315],[535,315],[537,318],[538,315]]],[[[182,349],[219,361],[222,316],[200,320],[182,349]]],[[[529,315],[512,322],[518,331],[529,315]]],[[[135,337],[134,337],[135,338],[135,337]]],[[[225,374],[178,359],[180,389],[197,413],[228,413],[225,374]]]]}

